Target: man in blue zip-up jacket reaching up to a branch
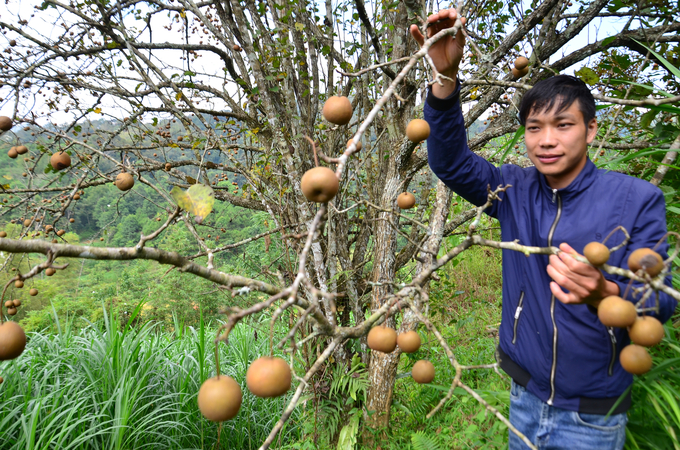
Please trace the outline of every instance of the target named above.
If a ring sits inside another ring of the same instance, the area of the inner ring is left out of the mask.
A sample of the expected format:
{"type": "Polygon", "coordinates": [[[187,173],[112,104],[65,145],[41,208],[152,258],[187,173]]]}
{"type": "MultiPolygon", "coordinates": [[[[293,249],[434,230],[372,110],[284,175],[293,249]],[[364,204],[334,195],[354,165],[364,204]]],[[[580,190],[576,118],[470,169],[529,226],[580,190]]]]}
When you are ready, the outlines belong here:
{"type": "MultiPolygon", "coordinates": [[[[456,18],[453,9],[433,14],[428,33],[453,26],[456,18]]],[[[410,31],[422,45],[418,28],[410,31]]],[[[451,80],[457,79],[464,46],[458,33],[429,50],[437,70],[451,80]]],[[[663,195],[646,181],[598,170],[588,159],[597,121],[594,99],[580,80],[556,76],[524,95],[520,122],[534,164],[527,169],[497,168],[470,151],[459,91],[459,83],[444,81],[428,95],[430,167],[475,205],[486,202],[487,186],[512,185],[502,202],[486,210],[500,221],[503,241],[562,250],[550,257],[503,251],[497,358],[513,379],[510,421],[539,448],[620,449],[630,396],[607,414],[632,383],[618,360],[630,339],[625,329],[602,325],[596,308],[604,297],[623,295],[629,280],[603,274],[571,254],[622,225],[631,239],[612,253],[609,264],[627,268],[633,250],[654,247],[666,233],[663,195]]],[[[607,244],[622,240],[618,232],[607,244]]],[[[664,259],[667,249],[666,243],[657,249],[664,259]]],[[[670,277],[666,282],[670,285],[670,277]]],[[[630,294],[627,299],[634,300],[630,294]]],[[[662,293],[658,302],[663,322],[676,302],[662,293]]],[[[526,448],[514,433],[509,440],[511,449],[526,448]]]]}

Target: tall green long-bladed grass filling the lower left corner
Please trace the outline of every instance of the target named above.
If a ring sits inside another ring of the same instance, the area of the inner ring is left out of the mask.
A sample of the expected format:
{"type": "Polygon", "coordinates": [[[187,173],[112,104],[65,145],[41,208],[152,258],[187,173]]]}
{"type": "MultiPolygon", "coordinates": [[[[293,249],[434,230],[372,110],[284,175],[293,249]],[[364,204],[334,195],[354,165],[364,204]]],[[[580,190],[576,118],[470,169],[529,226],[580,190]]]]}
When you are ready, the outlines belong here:
{"type": "MultiPolygon", "coordinates": [[[[57,334],[29,333],[24,353],[0,363],[0,448],[212,449],[217,424],[196,403],[201,383],[215,375],[215,330],[200,323],[172,332],[105,320],[57,334]]],[[[134,314],[133,314],[134,317],[134,314]]],[[[285,407],[286,398],[259,399],[245,387],[245,372],[269,353],[267,339],[241,324],[220,344],[223,374],[241,383],[239,414],[224,422],[221,449],[256,449],[285,407]]],[[[299,438],[295,415],[280,442],[299,438]]]]}

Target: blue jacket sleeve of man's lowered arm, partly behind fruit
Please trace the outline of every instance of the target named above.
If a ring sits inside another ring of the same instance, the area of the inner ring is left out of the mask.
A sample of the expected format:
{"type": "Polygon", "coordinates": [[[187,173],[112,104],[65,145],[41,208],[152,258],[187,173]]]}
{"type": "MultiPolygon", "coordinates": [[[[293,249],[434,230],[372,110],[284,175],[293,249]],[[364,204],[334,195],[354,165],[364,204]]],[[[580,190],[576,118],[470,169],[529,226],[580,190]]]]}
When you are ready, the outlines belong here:
{"type": "MultiPolygon", "coordinates": [[[[663,194],[661,190],[653,188],[651,196],[645,195],[649,194],[649,190],[652,190],[649,189],[651,187],[652,187],[651,185],[645,186],[645,188],[647,189],[644,190],[647,192],[643,192],[643,190],[634,188],[631,194],[631,197],[633,197],[631,199],[633,204],[644,206],[642,207],[642,209],[640,209],[637,215],[633,229],[628,230],[628,232],[630,233],[630,241],[629,244],[625,247],[626,254],[623,259],[625,269],[628,269],[628,257],[630,256],[631,253],[633,253],[633,251],[642,247],[654,248],[656,244],[659,242],[659,240],[666,234],[667,231],[666,204],[664,202],[663,194]]],[[[669,248],[668,241],[664,239],[664,242],[661,245],[659,245],[659,247],[656,248],[655,250],[657,253],[659,253],[659,255],[661,255],[664,261],[668,259],[668,248],[669,248]]],[[[628,284],[630,282],[630,279],[628,278],[616,277],[611,275],[606,275],[605,277],[619,285],[621,297],[623,297],[624,293],[626,293],[626,290],[628,290],[625,296],[626,299],[632,300],[636,303],[637,301],[640,300],[641,294],[633,296],[632,293],[635,288],[639,288],[642,285],[641,283],[634,282],[631,284],[629,288],[628,284]]],[[[672,287],[671,279],[672,279],[671,275],[666,276],[664,284],[672,287]]],[[[652,296],[646,301],[644,307],[653,308],[656,306],[656,301],[657,301],[656,295],[652,294],[652,296]]],[[[661,323],[664,323],[671,318],[673,312],[675,311],[675,308],[677,307],[678,302],[670,295],[660,291],[658,292],[658,302],[659,313],[648,314],[656,316],[661,321],[661,323]]]]}

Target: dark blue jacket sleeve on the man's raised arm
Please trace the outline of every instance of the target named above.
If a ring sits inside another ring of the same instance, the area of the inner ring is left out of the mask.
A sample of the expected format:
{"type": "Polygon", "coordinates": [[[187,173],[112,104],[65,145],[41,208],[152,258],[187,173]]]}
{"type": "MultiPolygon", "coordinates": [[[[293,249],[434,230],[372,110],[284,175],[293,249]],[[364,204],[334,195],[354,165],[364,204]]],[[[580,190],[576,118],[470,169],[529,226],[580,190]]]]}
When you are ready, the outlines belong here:
{"type": "MultiPolygon", "coordinates": [[[[430,125],[427,153],[430,168],[451,190],[475,206],[487,200],[487,186],[496,189],[503,184],[501,171],[470,151],[465,122],[460,107],[460,82],[446,99],[430,91],[424,107],[425,120],[430,125]]],[[[498,202],[485,212],[496,216],[498,202]]]]}

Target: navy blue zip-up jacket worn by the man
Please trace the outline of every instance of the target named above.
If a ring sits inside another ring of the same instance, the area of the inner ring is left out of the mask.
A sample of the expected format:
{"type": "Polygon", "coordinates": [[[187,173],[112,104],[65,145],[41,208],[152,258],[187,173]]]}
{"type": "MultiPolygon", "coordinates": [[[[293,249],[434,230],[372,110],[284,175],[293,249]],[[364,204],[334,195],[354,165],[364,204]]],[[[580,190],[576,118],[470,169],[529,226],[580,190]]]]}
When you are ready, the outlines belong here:
{"type": "MultiPolygon", "coordinates": [[[[460,83],[447,99],[431,93],[427,98],[429,164],[439,179],[477,206],[486,202],[487,186],[512,185],[500,195],[501,202],[485,211],[500,221],[503,241],[541,247],[566,242],[582,252],[586,244],[601,242],[622,225],[631,239],[611,254],[608,264],[628,268],[633,250],[654,247],[664,236],[663,195],[647,181],[597,169],[588,160],[569,186],[553,190],[535,167],[506,164],[498,168],[472,153],[459,91],[460,83]]],[[[623,239],[619,231],[607,245],[613,247],[623,239]]],[[[664,242],[657,251],[666,259],[668,244],[664,242]]],[[[602,325],[592,307],[565,305],[554,298],[548,264],[547,255],[527,257],[503,250],[503,310],[496,356],[515,382],[542,401],[572,411],[606,414],[632,383],[632,375],[623,370],[618,358],[630,343],[628,332],[602,325]]],[[[617,283],[623,295],[629,280],[604,276],[617,283]]],[[[670,285],[670,276],[666,283],[670,285]]],[[[633,300],[630,294],[628,299],[633,300]]],[[[653,306],[652,301],[647,306],[653,306]]],[[[676,301],[659,293],[658,302],[657,317],[665,322],[676,301]]],[[[630,396],[614,412],[629,407],[630,396]]]]}

